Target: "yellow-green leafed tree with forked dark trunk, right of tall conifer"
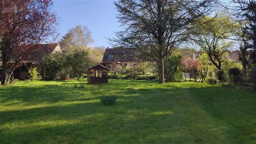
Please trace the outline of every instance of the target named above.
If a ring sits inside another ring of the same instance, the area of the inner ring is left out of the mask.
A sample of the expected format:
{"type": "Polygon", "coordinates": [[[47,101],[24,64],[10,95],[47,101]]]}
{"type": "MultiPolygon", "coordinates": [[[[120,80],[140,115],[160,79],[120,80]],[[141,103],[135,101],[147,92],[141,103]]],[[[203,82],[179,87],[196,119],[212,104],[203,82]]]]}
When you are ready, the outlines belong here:
{"type": "Polygon", "coordinates": [[[228,49],[232,46],[232,41],[227,40],[233,36],[237,25],[234,24],[230,16],[221,14],[216,17],[205,17],[198,24],[196,29],[196,43],[209,55],[209,59],[218,70],[221,70],[222,63],[226,60],[228,49]],[[205,22],[204,24],[201,24],[205,22]]]}

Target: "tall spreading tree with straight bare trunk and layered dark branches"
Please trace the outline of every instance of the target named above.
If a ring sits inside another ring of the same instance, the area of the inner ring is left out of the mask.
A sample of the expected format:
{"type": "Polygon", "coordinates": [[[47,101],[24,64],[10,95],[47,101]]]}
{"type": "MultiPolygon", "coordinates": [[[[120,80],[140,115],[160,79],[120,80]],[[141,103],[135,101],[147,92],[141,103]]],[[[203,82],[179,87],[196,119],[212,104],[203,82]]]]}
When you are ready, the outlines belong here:
{"type": "Polygon", "coordinates": [[[159,83],[164,83],[163,59],[190,39],[192,24],[211,13],[214,0],[119,0],[114,4],[124,30],[116,32],[110,44],[156,62],[159,83]]]}

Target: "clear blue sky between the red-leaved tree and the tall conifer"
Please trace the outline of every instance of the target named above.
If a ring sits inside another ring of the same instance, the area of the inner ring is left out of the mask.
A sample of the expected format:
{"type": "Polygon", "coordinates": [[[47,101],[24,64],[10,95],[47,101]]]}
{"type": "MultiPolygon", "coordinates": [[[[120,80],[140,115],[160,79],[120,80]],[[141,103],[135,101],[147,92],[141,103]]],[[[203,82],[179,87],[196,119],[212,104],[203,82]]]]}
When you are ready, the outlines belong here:
{"type": "Polygon", "coordinates": [[[92,32],[92,46],[109,46],[106,38],[120,30],[113,0],[53,0],[59,19],[59,39],[73,26],[84,25],[92,32]],[[105,38],[104,38],[105,37],[105,38]]]}

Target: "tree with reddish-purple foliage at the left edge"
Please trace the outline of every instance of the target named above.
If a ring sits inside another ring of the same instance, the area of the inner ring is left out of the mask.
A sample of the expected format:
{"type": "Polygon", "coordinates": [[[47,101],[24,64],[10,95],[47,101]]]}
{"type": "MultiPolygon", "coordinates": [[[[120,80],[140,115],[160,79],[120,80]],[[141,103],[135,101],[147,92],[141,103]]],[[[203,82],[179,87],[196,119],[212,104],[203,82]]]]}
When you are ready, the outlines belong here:
{"type": "Polygon", "coordinates": [[[1,1],[0,51],[2,67],[1,84],[10,81],[15,68],[22,65],[27,52],[36,45],[56,36],[57,16],[51,11],[51,0],[1,1]]]}

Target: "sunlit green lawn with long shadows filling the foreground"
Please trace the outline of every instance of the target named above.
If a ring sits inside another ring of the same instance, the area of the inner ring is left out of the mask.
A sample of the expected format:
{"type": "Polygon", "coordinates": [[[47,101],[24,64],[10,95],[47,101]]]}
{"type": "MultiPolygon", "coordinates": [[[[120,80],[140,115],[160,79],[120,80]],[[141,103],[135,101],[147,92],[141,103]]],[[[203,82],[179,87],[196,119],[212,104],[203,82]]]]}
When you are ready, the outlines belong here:
{"type": "Polygon", "coordinates": [[[254,92],[195,82],[73,83],[0,87],[0,144],[256,143],[254,92]],[[111,93],[117,104],[101,106],[111,93]]]}

